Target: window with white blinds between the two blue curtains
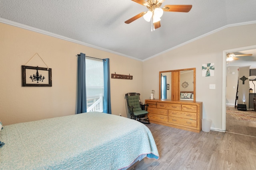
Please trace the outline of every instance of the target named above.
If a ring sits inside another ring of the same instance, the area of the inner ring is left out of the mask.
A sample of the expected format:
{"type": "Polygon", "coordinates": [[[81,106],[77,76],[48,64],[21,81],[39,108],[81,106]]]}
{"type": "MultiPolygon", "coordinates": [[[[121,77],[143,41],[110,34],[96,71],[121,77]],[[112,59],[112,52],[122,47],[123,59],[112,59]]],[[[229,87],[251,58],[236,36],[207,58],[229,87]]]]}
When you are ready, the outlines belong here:
{"type": "Polygon", "coordinates": [[[87,112],[103,111],[104,74],[103,62],[86,58],[86,104],[87,112]]]}

